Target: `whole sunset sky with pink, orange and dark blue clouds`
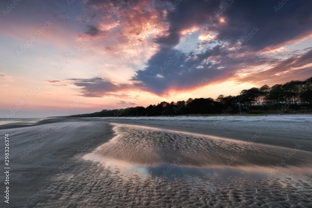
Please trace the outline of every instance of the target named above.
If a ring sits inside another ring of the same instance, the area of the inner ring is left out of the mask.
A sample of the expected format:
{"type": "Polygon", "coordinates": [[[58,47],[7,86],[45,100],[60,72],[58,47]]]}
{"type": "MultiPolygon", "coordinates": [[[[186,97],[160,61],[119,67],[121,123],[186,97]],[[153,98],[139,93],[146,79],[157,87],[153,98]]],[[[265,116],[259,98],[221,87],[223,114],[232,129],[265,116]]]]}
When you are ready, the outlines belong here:
{"type": "Polygon", "coordinates": [[[1,1],[0,117],[216,99],[312,76],[312,1],[1,1]]]}

